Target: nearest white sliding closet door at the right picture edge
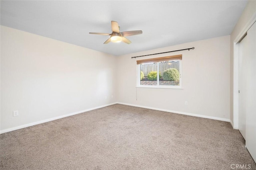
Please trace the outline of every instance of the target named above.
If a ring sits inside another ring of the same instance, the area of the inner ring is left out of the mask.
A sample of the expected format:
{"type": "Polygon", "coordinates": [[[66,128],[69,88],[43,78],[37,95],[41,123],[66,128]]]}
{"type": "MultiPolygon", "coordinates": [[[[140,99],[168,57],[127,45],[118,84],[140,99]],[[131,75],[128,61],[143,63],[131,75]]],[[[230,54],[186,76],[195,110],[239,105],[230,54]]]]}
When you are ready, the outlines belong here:
{"type": "MultiPolygon", "coordinates": [[[[246,148],[256,161],[256,23],[247,31],[246,57],[246,148]]],[[[239,106],[240,107],[240,106],[239,106]]]]}

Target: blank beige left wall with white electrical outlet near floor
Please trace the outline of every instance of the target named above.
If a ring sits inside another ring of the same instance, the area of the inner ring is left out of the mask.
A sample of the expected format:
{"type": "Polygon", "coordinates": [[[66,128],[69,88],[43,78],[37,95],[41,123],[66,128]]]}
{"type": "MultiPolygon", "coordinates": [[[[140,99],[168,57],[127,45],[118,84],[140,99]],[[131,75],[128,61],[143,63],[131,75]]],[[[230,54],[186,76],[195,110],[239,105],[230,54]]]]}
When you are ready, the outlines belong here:
{"type": "Polygon", "coordinates": [[[116,102],[115,71],[112,55],[1,26],[1,130],[116,102]]]}

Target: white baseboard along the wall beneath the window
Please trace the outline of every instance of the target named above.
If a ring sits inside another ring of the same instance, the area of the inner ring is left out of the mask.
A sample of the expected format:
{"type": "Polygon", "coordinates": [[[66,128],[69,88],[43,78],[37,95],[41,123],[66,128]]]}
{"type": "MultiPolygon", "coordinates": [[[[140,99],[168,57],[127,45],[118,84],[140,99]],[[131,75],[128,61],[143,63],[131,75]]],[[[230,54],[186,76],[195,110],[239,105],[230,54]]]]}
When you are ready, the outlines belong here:
{"type": "Polygon", "coordinates": [[[213,117],[213,116],[206,116],[206,115],[198,115],[194,113],[186,113],[182,111],[174,111],[174,110],[167,110],[167,109],[159,109],[155,107],[147,107],[147,106],[140,106],[140,105],[135,105],[135,104],[127,104],[127,103],[121,103],[117,102],[117,104],[123,104],[123,105],[128,105],[128,106],[135,106],[135,107],[142,107],[146,109],[153,109],[153,110],[159,110],[159,111],[166,111],[170,113],[177,113],[177,114],[182,114],[182,115],[189,115],[189,116],[195,116],[195,117],[202,117],[202,118],[207,118],[207,119],[214,119],[214,120],[220,120],[220,121],[228,121],[230,122],[230,119],[225,119],[225,118],[220,118],[220,117],[213,117]]]}

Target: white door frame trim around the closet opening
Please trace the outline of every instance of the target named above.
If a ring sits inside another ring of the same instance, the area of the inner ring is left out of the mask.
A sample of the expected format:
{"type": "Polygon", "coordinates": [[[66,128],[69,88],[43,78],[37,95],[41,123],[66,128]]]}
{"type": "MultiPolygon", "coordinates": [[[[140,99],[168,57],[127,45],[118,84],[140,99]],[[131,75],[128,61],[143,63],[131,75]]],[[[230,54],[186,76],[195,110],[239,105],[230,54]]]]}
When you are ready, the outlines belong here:
{"type": "MultiPolygon", "coordinates": [[[[246,35],[248,29],[256,21],[256,12],[252,15],[252,18],[245,25],[244,29],[238,34],[233,42],[233,128],[238,129],[238,67],[239,67],[239,42],[246,35]]],[[[231,120],[232,121],[232,120],[231,120]]]]}

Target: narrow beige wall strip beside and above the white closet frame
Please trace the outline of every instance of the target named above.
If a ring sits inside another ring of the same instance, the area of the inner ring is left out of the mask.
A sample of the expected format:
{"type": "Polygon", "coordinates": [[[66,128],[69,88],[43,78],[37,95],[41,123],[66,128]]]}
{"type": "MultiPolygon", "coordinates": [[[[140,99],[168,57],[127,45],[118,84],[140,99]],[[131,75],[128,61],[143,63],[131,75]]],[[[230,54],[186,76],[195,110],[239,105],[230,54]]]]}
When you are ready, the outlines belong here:
{"type": "Polygon", "coordinates": [[[252,17],[256,14],[256,1],[249,0],[242,15],[240,16],[236,26],[234,27],[231,35],[230,35],[230,120],[233,122],[233,72],[234,72],[234,40],[238,37],[238,35],[244,31],[246,25],[252,17]]]}

